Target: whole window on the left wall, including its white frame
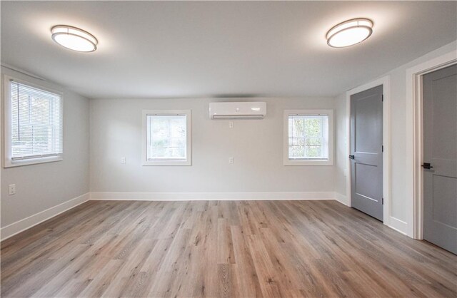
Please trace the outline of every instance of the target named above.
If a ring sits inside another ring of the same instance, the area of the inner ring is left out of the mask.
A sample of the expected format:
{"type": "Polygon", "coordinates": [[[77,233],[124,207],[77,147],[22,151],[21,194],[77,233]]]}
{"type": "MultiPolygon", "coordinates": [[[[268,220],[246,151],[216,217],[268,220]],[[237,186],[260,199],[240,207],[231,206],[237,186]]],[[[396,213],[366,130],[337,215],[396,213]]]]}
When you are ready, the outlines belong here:
{"type": "Polygon", "coordinates": [[[61,94],[5,76],[5,167],[62,160],[61,94]]]}

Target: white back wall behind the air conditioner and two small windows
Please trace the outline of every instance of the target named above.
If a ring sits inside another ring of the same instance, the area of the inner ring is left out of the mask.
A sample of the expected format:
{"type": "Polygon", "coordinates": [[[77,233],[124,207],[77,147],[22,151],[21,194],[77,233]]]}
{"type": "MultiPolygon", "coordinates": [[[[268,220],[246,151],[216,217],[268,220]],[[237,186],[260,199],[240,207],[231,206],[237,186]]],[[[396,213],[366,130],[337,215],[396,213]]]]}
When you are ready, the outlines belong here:
{"type": "Polygon", "coordinates": [[[267,102],[266,118],[233,120],[234,128],[209,119],[206,98],[91,100],[91,192],[333,194],[333,166],[283,165],[283,110],[334,108],[334,99],[257,100],[267,102]],[[141,166],[143,109],[191,109],[191,166],[141,166]]]}

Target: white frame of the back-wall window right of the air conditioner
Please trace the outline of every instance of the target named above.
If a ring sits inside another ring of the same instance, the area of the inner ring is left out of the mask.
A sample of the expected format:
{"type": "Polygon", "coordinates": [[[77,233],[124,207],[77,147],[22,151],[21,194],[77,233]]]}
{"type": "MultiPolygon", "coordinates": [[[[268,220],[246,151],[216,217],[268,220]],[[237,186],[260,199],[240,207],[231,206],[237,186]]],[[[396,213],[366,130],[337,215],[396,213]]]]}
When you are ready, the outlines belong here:
{"type": "Polygon", "coordinates": [[[283,116],[283,165],[333,165],[333,110],[285,110],[283,116]],[[288,158],[288,116],[289,115],[327,115],[328,116],[328,159],[289,159],[288,158]]]}

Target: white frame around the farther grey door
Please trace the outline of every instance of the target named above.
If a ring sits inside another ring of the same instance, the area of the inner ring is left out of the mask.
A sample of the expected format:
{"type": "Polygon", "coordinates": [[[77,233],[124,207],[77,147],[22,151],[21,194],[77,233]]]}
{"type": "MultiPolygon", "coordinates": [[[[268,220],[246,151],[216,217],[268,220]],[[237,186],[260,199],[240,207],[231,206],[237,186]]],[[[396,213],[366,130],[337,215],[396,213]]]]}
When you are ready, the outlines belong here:
{"type": "MultiPolygon", "coordinates": [[[[383,86],[383,223],[391,225],[391,77],[383,76],[375,81],[346,91],[346,200],[351,207],[351,95],[373,87],[383,86]]],[[[396,229],[397,230],[397,229],[396,229]]]]}

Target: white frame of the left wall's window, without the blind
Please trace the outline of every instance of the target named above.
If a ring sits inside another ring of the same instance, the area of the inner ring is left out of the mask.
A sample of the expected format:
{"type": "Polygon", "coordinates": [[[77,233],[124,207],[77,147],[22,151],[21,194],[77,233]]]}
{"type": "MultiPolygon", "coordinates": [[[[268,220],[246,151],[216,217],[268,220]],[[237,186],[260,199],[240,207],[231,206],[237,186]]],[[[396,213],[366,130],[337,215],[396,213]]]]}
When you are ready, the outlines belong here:
{"type": "Polygon", "coordinates": [[[4,75],[4,168],[19,167],[21,165],[35,165],[37,163],[52,163],[55,161],[64,160],[64,95],[60,91],[53,90],[44,86],[30,83],[19,78],[4,75]],[[11,158],[11,84],[14,81],[27,86],[31,86],[49,93],[54,93],[61,98],[61,117],[62,117],[62,154],[43,156],[39,158],[25,158],[22,160],[13,160],[11,158]]]}

